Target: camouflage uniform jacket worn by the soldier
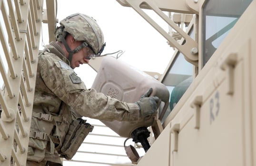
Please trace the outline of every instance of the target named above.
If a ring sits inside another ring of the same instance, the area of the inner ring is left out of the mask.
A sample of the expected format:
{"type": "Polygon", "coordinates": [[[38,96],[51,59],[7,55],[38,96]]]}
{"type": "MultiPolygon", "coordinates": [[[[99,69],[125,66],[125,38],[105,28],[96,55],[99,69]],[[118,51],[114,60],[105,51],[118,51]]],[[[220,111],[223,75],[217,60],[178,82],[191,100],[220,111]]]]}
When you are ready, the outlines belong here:
{"type": "MultiPolygon", "coordinates": [[[[137,104],[121,102],[103,93],[97,93],[94,89],[87,89],[70,68],[61,47],[53,42],[46,47],[48,51],[38,58],[30,135],[35,131],[59,138],[59,145],[55,145],[53,149],[57,154],[72,121],[70,107],[81,116],[98,120],[138,120],[137,104]],[[45,117],[48,115],[52,115],[53,120],[47,120],[45,117]]],[[[47,148],[49,155],[46,151],[46,156],[42,158],[42,155],[39,155],[39,160],[55,160],[52,159],[52,138],[50,142],[51,148],[47,148]]],[[[30,138],[30,147],[40,150],[40,154],[44,153],[47,146],[47,141],[30,138]]],[[[28,159],[38,161],[33,154],[34,152],[28,159]]]]}

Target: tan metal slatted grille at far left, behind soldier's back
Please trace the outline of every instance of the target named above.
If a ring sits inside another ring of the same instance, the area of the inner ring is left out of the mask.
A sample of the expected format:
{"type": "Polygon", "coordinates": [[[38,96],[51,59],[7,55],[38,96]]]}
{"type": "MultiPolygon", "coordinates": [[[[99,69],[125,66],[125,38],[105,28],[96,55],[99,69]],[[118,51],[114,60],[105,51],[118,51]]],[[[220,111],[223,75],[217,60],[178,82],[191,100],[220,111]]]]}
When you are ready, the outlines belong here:
{"type": "Polygon", "coordinates": [[[26,165],[42,6],[43,0],[0,0],[1,166],[26,165]]]}

